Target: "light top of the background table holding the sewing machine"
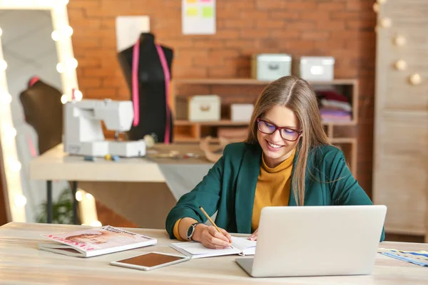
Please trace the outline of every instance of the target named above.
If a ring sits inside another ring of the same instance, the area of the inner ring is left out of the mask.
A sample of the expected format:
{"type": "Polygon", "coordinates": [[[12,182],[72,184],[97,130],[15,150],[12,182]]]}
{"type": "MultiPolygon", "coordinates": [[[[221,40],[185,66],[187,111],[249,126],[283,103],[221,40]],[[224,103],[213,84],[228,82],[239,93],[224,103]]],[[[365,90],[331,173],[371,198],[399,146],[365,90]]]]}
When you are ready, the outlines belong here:
{"type": "Polygon", "coordinates": [[[168,164],[212,164],[205,160],[197,144],[158,144],[148,150],[168,153],[172,150],[184,155],[192,152],[201,158],[174,160],[170,158],[146,157],[121,158],[118,162],[98,157],[96,161],[85,161],[83,156],[68,155],[63,145],[57,145],[30,162],[30,178],[34,180],[69,181],[115,181],[115,182],[165,182],[158,163],[168,164]]]}

